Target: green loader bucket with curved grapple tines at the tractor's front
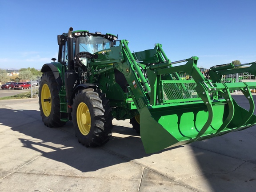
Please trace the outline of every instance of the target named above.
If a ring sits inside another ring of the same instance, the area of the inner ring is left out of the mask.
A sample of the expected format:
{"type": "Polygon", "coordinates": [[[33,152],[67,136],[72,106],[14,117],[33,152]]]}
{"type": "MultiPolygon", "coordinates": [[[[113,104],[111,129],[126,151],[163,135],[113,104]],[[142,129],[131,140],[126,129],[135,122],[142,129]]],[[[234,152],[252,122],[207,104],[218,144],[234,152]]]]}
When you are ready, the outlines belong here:
{"type": "MultiPolygon", "coordinates": [[[[253,115],[254,102],[246,84],[241,83],[241,87],[245,86],[246,90],[241,91],[250,105],[248,110],[236,103],[227,85],[216,85],[218,86],[225,87],[220,91],[223,96],[221,100],[206,102],[202,98],[200,101],[144,106],[140,111],[140,136],[146,153],[253,126],[256,123],[256,116],[253,115]]],[[[230,86],[232,89],[232,84],[230,86]]]]}

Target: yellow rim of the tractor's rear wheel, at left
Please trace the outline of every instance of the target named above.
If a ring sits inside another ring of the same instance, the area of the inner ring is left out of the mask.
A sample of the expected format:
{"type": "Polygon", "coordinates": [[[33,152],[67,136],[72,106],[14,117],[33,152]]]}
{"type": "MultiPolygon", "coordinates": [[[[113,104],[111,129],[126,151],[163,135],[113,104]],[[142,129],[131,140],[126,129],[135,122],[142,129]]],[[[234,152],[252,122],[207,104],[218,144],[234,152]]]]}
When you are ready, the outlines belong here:
{"type": "Polygon", "coordinates": [[[44,116],[49,116],[52,109],[51,92],[47,84],[44,84],[41,90],[41,104],[44,116]]]}

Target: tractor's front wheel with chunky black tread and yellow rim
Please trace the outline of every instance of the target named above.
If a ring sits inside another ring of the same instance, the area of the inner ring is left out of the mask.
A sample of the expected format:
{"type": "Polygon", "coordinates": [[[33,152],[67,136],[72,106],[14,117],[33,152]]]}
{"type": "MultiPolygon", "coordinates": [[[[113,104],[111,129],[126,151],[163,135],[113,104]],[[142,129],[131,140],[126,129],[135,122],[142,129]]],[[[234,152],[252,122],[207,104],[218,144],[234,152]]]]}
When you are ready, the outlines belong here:
{"type": "Polygon", "coordinates": [[[72,120],[78,141],[86,147],[97,147],[112,136],[112,108],[100,89],[79,90],[73,99],[72,120]]]}

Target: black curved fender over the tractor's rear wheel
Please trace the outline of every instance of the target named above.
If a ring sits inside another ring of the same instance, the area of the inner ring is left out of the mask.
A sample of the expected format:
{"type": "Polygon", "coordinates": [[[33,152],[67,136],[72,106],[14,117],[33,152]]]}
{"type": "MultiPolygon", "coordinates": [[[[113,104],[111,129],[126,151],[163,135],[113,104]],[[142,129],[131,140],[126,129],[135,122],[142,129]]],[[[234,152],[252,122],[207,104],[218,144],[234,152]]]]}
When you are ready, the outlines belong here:
{"type": "Polygon", "coordinates": [[[41,72],[49,72],[52,71],[55,80],[57,82],[57,84],[59,86],[62,86],[62,78],[61,78],[61,74],[62,74],[62,65],[60,63],[56,63],[54,62],[54,64],[50,63],[50,64],[44,64],[41,72]]]}

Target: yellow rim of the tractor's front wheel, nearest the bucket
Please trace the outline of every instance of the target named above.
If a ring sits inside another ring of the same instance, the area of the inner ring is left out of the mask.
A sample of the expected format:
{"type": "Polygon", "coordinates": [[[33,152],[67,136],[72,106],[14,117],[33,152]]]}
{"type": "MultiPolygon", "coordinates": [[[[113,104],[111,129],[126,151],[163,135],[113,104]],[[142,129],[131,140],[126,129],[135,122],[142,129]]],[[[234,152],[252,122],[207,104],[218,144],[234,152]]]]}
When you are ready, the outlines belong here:
{"type": "Polygon", "coordinates": [[[76,111],[76,120],[80,132],[86,136],[91,129],[91,115],[88,106],[80,103],[76,111]]]}

